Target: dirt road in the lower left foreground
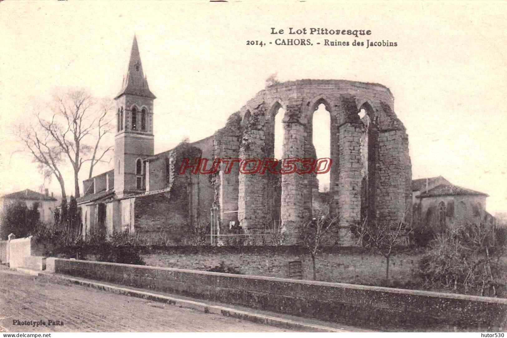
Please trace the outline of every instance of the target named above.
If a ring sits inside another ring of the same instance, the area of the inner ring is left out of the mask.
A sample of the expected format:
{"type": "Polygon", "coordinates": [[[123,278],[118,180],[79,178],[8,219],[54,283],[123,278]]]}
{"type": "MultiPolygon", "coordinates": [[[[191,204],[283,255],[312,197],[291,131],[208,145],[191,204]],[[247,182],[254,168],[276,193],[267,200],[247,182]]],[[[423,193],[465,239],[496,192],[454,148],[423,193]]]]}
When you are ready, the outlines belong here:
{"type": "Polygon", "coordinates": [[[0,331],[10,332],[287,332],[68,282],[0,272],[0,331]],[[46,326],[13,325],[13,320],[46,326]],[[63,325],[53,325],[57,321],[63,325]]]}

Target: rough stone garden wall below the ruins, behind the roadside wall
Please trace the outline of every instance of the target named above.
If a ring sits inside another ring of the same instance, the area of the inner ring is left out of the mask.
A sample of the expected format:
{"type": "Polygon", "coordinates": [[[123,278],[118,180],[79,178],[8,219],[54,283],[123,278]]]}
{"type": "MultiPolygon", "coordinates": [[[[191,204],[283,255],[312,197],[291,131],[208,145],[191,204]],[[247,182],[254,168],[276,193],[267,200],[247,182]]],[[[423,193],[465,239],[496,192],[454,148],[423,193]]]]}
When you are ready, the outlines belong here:
{"type": "MultiPolygon", "coordinates": [[[[216,248],[215,250],[153,251],[141,254],[147,265],[160,267],[208,270],[222,261],[246,275],[288,278],[289,261],[301,260],[303,279],[313,279],[310,255],[304,250],[276,250],[269,247],[245,247],[244,250],[216,248]]],[[[363,285],[393,285],[411,287],[422,284],[419,262],[422,250],[395,253],[389,261],[389,284],[385,284],[386,259],[375,250],[342,248],[319,253],[316,257],[317,280],[363,285]]]]}

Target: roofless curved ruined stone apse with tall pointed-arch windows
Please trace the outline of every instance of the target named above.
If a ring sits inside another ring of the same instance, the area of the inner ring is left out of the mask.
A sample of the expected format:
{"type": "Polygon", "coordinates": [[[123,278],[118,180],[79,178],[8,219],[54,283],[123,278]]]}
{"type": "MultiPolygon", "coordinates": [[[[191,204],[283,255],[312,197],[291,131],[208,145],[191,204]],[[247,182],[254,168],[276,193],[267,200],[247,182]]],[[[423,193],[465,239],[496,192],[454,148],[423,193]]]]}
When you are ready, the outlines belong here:
{"type": "MultiPolygon", "coordinates": [[[[273,158],[274,118],[282,107],[285,110],[283,158],[315,157],[312,117],[320,104],[331,115],[330,213],[338,216],[344,229],[342,244],[352,244],[350,231],[346,229],[365,217],[379,222],[410,219],[412,172],[408,136],[394,114],[391,92],[380,84],[300,80],[267,87],[231,115],[226,126],[215,133],[213,156],[273,158]],[[359,118],[361,109],[368,114],[368,124],[359,118]],[[368,137],[366,157],[365,135],[368,137]],[[368,158],[367,165],[361,157],[368,158]]],[[[287,244],[294,244],[298,224],[311,217],[312,195],[315,189],[318,191],[316,175],[281,175],[281,206],[278,207],[273,197],[274,182],[279,177],[244,175],[239,173],[238,165],[228,175],[224,170],[225,164],[221,164],[212,183],[213,205],[219,210],[221,228],[226,231],[229,221],[239,221],[247,232],[264,229],[276,214],[273,208],[280,208],[287,244]]]]}

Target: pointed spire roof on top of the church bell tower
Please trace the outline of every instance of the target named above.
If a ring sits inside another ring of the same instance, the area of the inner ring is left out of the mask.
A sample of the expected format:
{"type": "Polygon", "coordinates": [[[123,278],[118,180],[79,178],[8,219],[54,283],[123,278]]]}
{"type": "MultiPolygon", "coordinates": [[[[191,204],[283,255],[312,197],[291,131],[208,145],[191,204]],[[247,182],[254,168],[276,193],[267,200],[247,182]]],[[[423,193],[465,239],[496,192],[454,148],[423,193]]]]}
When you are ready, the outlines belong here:
{"type": "Polygon", "coordinates": [[[124,77],[122,90],[115,98],[118,98],[123,94],[156,98],[150,91],[148,81],[142,72],[141,56],[139,54],[139,47],[137,46],[137,38],[135,34],[134,40],[132,41],[132,49],[130,50],[127,75],[124,77]]]}

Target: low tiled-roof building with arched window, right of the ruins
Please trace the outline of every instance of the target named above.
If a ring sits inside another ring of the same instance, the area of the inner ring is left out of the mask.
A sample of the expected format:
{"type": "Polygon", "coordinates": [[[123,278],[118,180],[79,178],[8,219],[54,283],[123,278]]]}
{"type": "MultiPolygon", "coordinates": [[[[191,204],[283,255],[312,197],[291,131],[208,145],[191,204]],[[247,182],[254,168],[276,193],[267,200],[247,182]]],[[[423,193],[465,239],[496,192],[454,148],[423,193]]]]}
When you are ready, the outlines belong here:
{"type": "Polygon", "coordinates": [[[495,221],[486,211],[488,194],[453,185],[442,176],[413,180],[412,196],[414,221],[437,232],[454,224],[495,221]]]}

